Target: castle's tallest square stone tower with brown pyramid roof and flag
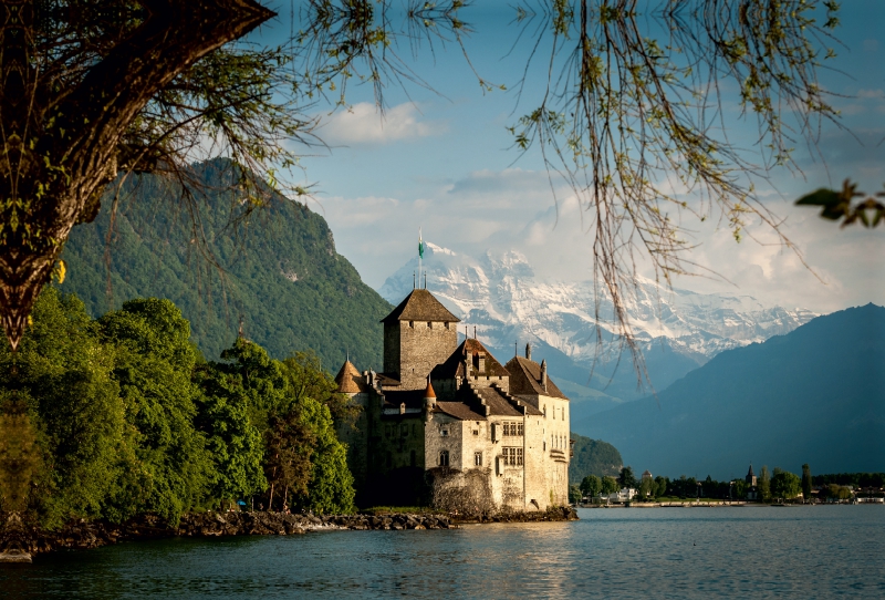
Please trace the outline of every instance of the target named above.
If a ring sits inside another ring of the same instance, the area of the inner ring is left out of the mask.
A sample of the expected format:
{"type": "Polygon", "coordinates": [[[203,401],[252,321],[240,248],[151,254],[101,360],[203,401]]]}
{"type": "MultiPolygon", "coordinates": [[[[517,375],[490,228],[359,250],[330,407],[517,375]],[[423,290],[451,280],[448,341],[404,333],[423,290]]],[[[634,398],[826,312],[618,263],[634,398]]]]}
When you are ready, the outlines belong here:
{"type": "Polygon", "coordinates": [[[423,390],[427,375],[458,348],[460,321],[427,290],[412,290],[384,323],[384,374],[400,390],[423,390]]]}

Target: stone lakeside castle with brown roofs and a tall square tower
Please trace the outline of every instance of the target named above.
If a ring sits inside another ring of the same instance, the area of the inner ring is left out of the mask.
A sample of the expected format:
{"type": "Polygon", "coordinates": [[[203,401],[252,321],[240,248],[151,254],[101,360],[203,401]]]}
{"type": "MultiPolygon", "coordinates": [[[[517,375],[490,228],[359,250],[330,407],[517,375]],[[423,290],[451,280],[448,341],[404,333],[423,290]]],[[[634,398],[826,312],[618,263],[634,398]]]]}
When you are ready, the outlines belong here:
{"type": "Polygon", "coordinates": [[[339,391],[363,408],[339,432],[357,503],[428,501],[433,482],[448,478],[481,487],[497,509],[565,505],[569,399],[530,345],[502,365],[476,335],[459,344],[458,322],[415,289],[382,320],[384,372],[341,368],[339,391]]]}

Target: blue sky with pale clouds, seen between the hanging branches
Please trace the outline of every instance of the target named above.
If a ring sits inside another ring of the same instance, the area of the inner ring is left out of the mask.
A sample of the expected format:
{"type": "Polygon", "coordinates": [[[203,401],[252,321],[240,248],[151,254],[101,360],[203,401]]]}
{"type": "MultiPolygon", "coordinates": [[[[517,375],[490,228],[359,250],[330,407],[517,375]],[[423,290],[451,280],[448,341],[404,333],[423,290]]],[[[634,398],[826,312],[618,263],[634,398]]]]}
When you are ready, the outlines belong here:
{"type": "MultiPolygon", "coordinates": [[[[280,25],[264,28],[264,39],[288,32],[289,7],[280,12],[280,25]]],[[[408,48],[395,48],[433,90],[392,83],[383,117],[368,86],[348,89],[348,110],[312,110],[323,123],[320,136],[332,147],[305,151],[305,173],[294,177],[316,184],[311,207],[326,218],[339,251],[368,285],[379,287],[412,257],[419,226],[426,240],[458,252],[517,248],[537,273],[550,279],[589,277],[590,238],[582,211],[559,186],[554,200],[539,153],[520,156],[506,130],[533,107],[549,52],[541,48],[518,103],[514,87],[530,45],[523,37],[514,46],[519,28],[513,17],[507,2],[483,1],[462,11],[476,30],[466,42],[473,66],[508,91],[483,93],[454,44],[436,45],[434,53],[425,45],[417,59],[408,48]]],[[[712,219],[686,221],[695,231],[693,241],[700,244],[691,258],[729,282],[683,277],[677,287],[738,291],[820,312],[870,301],[885,304],[884,230],[840,230],[814,211],[792,206],[798,196],[822,185],[839,186],[844,177],[867,192],[882,190],[885,182],[885,2],[844,2],[840,19],[836,34],[844,46],[836,46],[833,71],[823,73],[821,82],[844,96],[834,103],[850,131],[825,126],[819,146],[825,164],[799,147],[804,178],[777,172],[773,188],[760,188],[768,206],[787,219],[787,235],[816,277],[789,250],[772,245],[763,227],[751,229],[758,241],[736,244],[712,219]]],[[[725,100],[728,107],[737,96],[725,100]]],[[[752,122],[735,118],[728,126],[730,136],[750,144],[752,122]]]]}

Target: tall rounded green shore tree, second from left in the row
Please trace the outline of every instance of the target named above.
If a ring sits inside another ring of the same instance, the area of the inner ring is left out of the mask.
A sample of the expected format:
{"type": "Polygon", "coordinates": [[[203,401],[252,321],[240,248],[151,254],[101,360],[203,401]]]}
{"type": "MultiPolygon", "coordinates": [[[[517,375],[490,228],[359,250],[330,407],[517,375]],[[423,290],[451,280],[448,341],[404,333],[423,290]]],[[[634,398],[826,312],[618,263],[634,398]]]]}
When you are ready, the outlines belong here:
{"type": "Polygon", "coordinates": [[[200,391],[191,381],[196,350],[190,325],[169,300],[131,300],[98,320],[114,348],[135,464],[121,484],[121,515],[153,513],[173,524],[206,498],[212,461],[194,428],[200,391]]]}

